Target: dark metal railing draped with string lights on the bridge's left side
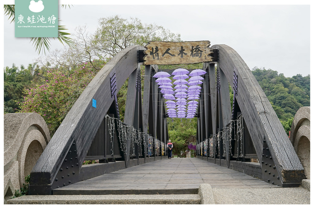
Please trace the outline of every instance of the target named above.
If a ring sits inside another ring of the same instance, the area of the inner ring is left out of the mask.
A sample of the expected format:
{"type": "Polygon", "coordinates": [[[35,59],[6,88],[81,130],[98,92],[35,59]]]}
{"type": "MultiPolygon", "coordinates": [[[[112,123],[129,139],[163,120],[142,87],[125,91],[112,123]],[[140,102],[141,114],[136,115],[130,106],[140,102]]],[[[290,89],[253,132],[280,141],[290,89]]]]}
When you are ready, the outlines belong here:
{"type": "Polygon", "coordinates": [[[104,163],[123,161],[126,155],[136,159],[165,156],[166,152],[166,144],[159,139],[106,115],[84,160],[99,159],[104,163]]]}

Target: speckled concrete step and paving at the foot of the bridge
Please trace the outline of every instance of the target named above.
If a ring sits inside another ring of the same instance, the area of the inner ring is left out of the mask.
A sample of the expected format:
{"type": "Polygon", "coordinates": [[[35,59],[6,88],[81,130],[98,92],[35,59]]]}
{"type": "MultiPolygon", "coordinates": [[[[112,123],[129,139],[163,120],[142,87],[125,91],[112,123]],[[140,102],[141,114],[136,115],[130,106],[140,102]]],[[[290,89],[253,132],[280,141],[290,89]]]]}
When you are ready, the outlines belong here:
{"type": "Polygon", "coordinates": [[[233,189],[201,184],[198,194],[28,195],[7,204],[310,204],[310,191],[303,187],[233,189]]]}

